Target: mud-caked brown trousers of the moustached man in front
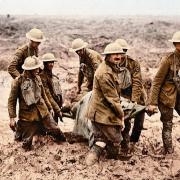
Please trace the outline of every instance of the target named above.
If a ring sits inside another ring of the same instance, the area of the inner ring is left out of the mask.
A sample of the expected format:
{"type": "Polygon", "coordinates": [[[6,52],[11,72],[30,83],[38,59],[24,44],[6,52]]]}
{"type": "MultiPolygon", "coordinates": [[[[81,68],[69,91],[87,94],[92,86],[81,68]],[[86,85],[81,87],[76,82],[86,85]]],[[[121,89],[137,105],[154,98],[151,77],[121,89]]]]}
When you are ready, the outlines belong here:
{"type": "MultiPolygon", "coordinates": [[[[104,148],[107,151],[108,157],[116,158],[122,140],[121,127],[104,125],[97,122],[92,122],[92,126],[94,135],[94,145],[92,149],[97,151],[98,143],[104,142],[106,145],[104,148]]],[[[102,148],[98,148],[98,155],[101,154],[102,150],[102,148]]]]}

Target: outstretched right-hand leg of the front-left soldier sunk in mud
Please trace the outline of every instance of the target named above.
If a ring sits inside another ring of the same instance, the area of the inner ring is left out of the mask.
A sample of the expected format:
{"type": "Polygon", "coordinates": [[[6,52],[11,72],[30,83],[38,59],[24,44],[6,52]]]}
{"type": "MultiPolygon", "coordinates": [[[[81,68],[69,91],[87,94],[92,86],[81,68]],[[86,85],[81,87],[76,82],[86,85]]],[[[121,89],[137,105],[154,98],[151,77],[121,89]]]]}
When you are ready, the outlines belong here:
{"type": "Polygon", "coordinates": [[[63,132],[58,127],[51,115],[47,115],[43,120],[42,124],[44,128],[58,141],[66,141],[63,132]]]}

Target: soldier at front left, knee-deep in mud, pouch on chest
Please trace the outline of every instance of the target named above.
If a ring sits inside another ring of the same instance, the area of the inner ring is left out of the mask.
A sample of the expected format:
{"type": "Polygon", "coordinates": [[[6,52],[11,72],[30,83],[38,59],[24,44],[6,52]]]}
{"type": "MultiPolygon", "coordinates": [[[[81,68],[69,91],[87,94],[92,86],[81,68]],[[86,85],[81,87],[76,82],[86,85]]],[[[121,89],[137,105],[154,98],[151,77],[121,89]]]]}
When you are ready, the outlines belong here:
{"type": "Polygon", "coordinates": [[[42,131],[50,132],[56,140],[65,140],[51,116],[52,106],[37,75],[41,65],[35,56],[25,59],[22,66],[25,71],[13,81],[8,99],[10,128],[16,131],[15,140],[23,141],[22,147],[25,150],[31,149],[33,136],[42,131]],[[17,100],[19,100],[19,120],[16,124],[17,100]]]}

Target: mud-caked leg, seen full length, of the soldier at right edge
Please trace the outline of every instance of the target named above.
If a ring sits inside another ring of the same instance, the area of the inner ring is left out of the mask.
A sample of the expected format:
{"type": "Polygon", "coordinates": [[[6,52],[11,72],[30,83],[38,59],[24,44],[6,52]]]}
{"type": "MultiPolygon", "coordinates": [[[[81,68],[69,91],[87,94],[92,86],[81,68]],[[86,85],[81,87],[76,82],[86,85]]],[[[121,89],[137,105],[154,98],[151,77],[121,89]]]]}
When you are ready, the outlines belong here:
{"type": "Polygon", "coordinates": [[[169,108],[162,103],[158,105],[161,113],[161,121],[163,123],[162,140],[164,150],[166,154],[173,152],[172,147],[172,120],[173,120],[173,108],[169,108]]]}

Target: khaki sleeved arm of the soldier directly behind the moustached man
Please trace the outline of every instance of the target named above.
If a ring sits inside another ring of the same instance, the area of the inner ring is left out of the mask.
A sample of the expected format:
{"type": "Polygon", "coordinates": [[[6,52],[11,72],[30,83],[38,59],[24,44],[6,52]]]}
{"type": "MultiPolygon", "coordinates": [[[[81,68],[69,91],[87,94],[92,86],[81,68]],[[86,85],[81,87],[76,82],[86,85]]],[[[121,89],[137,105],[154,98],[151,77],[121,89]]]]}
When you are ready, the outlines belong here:
{"type": "Polygon", "coordinates": [[[142,94],[142,74],[141,74],[141,68],[140,64],[138,62],[135,62],[135,67],[132,73],[132,96],[131,101],[140,102],[140,97],[142,94]]]}

